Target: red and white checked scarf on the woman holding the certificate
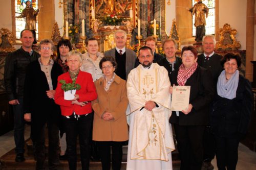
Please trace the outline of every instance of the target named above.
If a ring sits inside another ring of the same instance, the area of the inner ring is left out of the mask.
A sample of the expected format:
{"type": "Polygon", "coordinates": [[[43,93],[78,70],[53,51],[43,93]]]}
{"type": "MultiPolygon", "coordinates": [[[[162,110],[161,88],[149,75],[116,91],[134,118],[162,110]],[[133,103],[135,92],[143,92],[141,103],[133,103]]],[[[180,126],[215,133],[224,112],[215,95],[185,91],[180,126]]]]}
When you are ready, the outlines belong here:
{"type": "Polygon", "coordinates": [[[178,71],[178,78],[177,82],[179,86],[184,86],[187,79],[190,78],[191,75],[194,74],[194,72],[197,69],[197,62],[195,62],[190,68],[185,69],[185,65],[181,64],[179,71],[178,71]]]}

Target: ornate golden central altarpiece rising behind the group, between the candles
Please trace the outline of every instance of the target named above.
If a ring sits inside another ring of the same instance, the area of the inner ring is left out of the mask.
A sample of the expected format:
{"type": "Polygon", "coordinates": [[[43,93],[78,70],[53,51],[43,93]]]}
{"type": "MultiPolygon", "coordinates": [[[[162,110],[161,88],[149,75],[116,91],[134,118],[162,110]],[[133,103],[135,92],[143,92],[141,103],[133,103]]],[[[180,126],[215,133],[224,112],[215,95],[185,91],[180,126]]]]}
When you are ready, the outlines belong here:
{"type": "Polygon", "coordinates": [[[138,0],[90,0],[89,25],[94,33],[94,38],[99,42],[99,51],[105,52],[115,47],[114,33],[116,30],[124,30],[127,34],[126,47],[131,48],[132,31],[137,27],[138,0]],[[123,21],[119,25],[106,26],[102,20],[107,15],[114,15],[123,21]]]}

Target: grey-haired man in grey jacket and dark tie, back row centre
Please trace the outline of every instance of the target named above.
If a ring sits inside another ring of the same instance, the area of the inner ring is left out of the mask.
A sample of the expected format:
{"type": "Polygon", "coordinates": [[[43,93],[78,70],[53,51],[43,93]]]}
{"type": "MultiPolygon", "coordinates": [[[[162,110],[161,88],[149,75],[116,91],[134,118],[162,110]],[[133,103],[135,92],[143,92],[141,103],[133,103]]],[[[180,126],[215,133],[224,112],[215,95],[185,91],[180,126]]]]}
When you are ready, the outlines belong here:
{"type": "Polygon", "coordinates": [[[134,68],[136,53],[125,47],[127,41],[126,33],[123,30],[115,32],[116,47],[106,51],[104,56],[111,56],[116,59],[117,69],[116,74],[123,80],[127,79],[130,71],[134,68]]]}

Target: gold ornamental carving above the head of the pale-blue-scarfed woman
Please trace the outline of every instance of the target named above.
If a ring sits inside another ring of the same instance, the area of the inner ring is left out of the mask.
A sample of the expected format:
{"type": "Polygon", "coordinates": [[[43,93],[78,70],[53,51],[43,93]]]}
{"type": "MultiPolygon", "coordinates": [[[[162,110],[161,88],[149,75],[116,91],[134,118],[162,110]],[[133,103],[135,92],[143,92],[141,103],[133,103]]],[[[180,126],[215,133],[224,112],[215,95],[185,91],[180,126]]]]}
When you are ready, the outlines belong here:
{"type": "Polygon", "coordinates": [[[220,40],[216,44],[216,48],[219,49],[239,49],[241,44],[236,40],[235,35],[237,34],[236,29],[232,29],[228,23],[226,23],[219,31],[220,40]]]}

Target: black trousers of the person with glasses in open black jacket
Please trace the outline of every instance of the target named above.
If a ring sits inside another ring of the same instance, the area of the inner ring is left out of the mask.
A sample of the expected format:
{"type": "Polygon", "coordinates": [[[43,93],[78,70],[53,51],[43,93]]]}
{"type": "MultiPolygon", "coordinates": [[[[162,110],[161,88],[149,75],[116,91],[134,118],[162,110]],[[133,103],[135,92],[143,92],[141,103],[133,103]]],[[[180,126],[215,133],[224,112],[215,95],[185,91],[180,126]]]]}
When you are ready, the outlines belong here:
{"type": "MultiPolygon", "coordinates": [[[[33,119],[32,119],[33,121],[33,119]]],[[[32,123],[31,130],[36,128],[36,133],[33,133],[32,140],[35,147],[36,154],[36,169],[44,169],[45,163],[45,131],[46,125],[38,127],[38,124],[32,123]]],[[[58,125],[53,122],[47,123],[48,138],[49,138],[49,169],[57,169],[59,164],[59,129],[58,125]]],[[[34,129],[35,130],[35,129],[34,129]]],[[[33,130],[33,131],[34,131],[33,130]]]]}

